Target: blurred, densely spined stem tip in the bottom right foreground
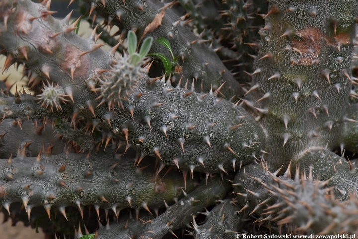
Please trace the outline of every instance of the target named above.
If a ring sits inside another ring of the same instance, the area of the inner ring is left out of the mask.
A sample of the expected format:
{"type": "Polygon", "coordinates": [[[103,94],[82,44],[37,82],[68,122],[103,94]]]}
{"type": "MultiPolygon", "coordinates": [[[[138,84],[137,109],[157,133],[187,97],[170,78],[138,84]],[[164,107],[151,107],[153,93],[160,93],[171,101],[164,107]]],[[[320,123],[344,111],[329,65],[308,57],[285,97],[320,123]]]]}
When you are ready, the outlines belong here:
{"type": "Polygon", "coordinates": [[[288,232],[334,235],[357,233],[353,223],[357,220],[358,196],[354,192],[349,200],[337,201],[328,181],[313,181],[312,167],[308,178],[297,170],[294,180],[290,169],[277,177],[263,165],[251,164],[234,179],[243,210],[257,213],[256,222],[275,221],[282,227],[289,224],[288,232]],[[250,186],[249,186],[250,185],[250,186]],[[245,188],[250,188],[245,189],[245,188]]]}

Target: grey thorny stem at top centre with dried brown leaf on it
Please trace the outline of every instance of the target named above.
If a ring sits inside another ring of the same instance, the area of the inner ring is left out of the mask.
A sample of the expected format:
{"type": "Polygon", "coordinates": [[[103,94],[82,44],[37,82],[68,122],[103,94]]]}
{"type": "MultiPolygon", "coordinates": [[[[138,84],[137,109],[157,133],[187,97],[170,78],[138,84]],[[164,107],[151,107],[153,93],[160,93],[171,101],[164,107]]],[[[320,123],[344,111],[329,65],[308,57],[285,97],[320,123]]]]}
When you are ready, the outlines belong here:
{"type": "MultiPolygon", "coordinates": [[[[142,2],[134,0],[123,2],[106,0],[105,7],[102,1],[86,0],[92,8],[96,9],[103,17],[110,18],[112,24],[120,28],[136,30],[137,36],[152,36],[154,39],[167,38],[171,44],[174,56],[181,56],[178,60],[182,66],[182,72],[172,76],[173,80],[184,85],[187,81],[189,87],[194,78],[194,85],[200,89],[203,82],[203,91],[209,92],[211,86],[214,90],[224,84],[221,95],[226,99],[233,96],[242,96],[243,90],[229,70],[223,65],[220,58],[204,44],[204,40],[198,39],[189,28],[185,27],[185,21],[160,1],[147,0],[142,2]],[[180,22],[181,21],[181,22],[180,22]],[[153,23],[152,23],[153,22],[153,23]],[[150,27],[152,23],[152,27],[150,27]],[[147,30],[145,30],[147,28],[147,30]],[[153,28],[154,27],[154,28],[153,28]],[[148,31],[149,28],[152,28],[148,31]]],[[[170,54],[160,44],[154,44],[151,52],[170,54]]],[[[180,71],[179,71],[180,72],[180,71]]]]}

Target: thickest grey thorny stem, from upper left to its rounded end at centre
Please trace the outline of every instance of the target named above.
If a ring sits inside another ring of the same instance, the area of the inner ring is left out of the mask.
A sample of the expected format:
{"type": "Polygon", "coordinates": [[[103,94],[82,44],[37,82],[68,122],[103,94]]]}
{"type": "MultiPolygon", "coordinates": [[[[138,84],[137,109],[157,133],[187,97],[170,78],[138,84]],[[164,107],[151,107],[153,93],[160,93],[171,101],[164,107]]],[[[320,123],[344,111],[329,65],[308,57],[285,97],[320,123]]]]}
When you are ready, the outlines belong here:
{"type": "MultiPolygon", "coordinates": [[[[39,7],[35,3],[28,4],[33,8],[39,7]]],[[[16,9],[20,11],[22,8],[18,6],[16,9]]],[[[39,23],[37,27],[40,29],[43,27],[42,24],[47,24],[48,28],[46,29],[60,26],[61,29],[63,28],[63,24],[61,25],[50,16],[48,16],[47,21],[34,20],[33,24],[35,22],[39,23]]],[[[10,26],[10,21],[8,25],[10,26]]],[[[14,25],[17,26],[18,24],[14,23],[14,25]]],[[[68,26],[64,27],[64,29],[68,28],[68,26]]],[[[58,48],[56,49],[89,47],[88,41],[71,34],[64,32],[56,36],[56,39],[58,38],[58,48]],[[66,37],[70,38],[67,39],[66,37]],[[64,42],[61,42],[61,40],[64,42]],[[73,45],[76,45],[76,47],[73,45]]],[[[16,41],[9,42],[5,36],[13,36],[16,39],[18,38],[19,41],[22,39],[17,37],[15,32],[12,34],[3,33],[0,41],[6,42],[9,49],[13,48],[16,41]]],[[[41,54],[36,55],[36,52],[35,49],[29,50],[28,60],[25,59],[26,64],[35,69],[41,61],[41,58],[35,60],[41,56],[41,54]]],[[[74,56],[75,53],[76,51],[68,52],[71,56],[74,56]]],[[[81,55],[80,51],[78,53],[81,55]]],[[[58,50],[54,54],[46,54],[49,55],[47,56],[48,61],[66,61],[63,58],[62,50],[58,50]]],[[[100,49],[89,52],[78,59],[81,59],[82,62],[87,57],[89,59],[86,60],[86,69],[93,72],[95,72],[97,65],[94,63],[94,57],[104,59],[100,62],[102,65],[105,62],[110,62],[111,59],[108,54],[100,49]]],[[[125,56],[122,58],[125,58],[125,56]]],[[[69,62],[67,60],[66,64],[69,62]]],[[[41,64],[46,65],[48,63],[41,62],[41,64]]],[[[75,74],[72,82],[68,74],[65,74],[65,69],[61,68],[62,64],[65,63],[61,63],[59,66],[51,65],[54,76],[51,75],[52,71],[50,71],[50,77],[53,81],[63,84],[62,86],[65,87],[65,92],[68,95],[70,95],[68,89],[71,92],[78,93],[71,93],[75,102],[72,106],[73,117],[76,117],[77,114],[83,114],[88,122],[92,122],[93,127],[100,123],[104,129],[112,130],[123,142],[127,143],[128,147],[130,145],[135,146],[137,151],[141,153],[141,158],[145,155],[156,156],[163,160],[164,164],[177,165],[180,170],[212,173],[235,170],[242,164],[250,163],[261,155],[261,149],[265,143],[262,128],[243,108],[218,98],[217,94],[221,92],[221,89],[217,89],[215,92],[210,91],[209,94],[198,94],[195,93],[194,87],[190,91],[186,87],[185,89],[173,88],[168,82],[166,84],[155,81],[143,75],[141,79],[135,80],[137,86],[133,87],[134,92],[126,97],[128,100],[123,101],[123,107],[114,105],[111,101],[108,102],[109,107],[113,110],[111,112],[108,111],[105,101],[100,102],[95,99],[94,93],[89,93],[85,89],[86,81],[88,81],[88,86],[93,87],[92,83],[95,85],[92,79],[95,74],[89,72],[84,75],[75,74]],[[62,73],[57,74],[56,72],[62,73]],[[70,88],[67,84],[70,84],[70,88]]],[[[85,67],[85,62],[81,63],[81,67],[85,67]]],[[[79,70],[82,69],[81,67],[79,70]]],[[[117,77],[116,74],[114,76],[117,77]]],[[[114,93],[118,94],[117,92],[114,93]]],[[[110,95],[110,92],[106,94],[110,95]]],[[[19,100],[16,101],[16,98],[5,98],[4,96],[0,99],[0,114],[13,119],[42,117],[41,113],[45,109],[40,108],[39,104],[34,104],[33,98],[29,95],[21,95],[19,100]],[[31,102],[31,104],[27,102],[31,102]]],[[[71,107],[67,109],[67,106],[69,104],[66,104],[66,107],[61,105],[62,114],[71,115],[68,112],[71,107]]],[[[54,110],[54,113],[51,114],[55,113],[54,110]]]]}

